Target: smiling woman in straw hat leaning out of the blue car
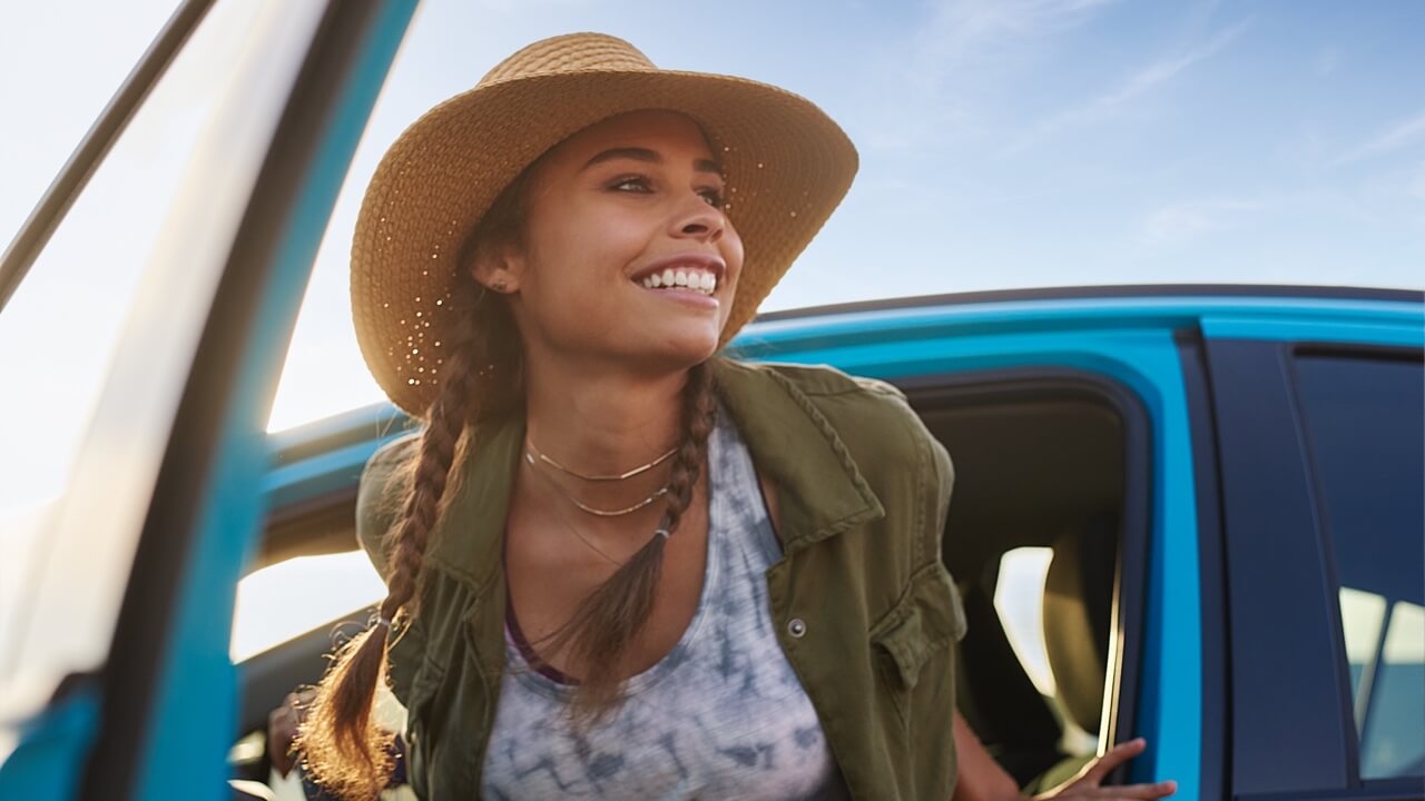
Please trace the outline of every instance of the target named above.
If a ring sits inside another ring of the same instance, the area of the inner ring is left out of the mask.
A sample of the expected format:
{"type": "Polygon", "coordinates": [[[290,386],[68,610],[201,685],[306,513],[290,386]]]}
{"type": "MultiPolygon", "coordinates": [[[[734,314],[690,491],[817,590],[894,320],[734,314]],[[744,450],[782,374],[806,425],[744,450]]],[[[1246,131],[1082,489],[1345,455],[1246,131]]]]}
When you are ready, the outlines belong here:
{"type": "Polygon", "coordinates": [[[353,318],[426,428],[362,479],[389,596],[302,727],[332,791],[383,781],[389,670],[425,798],[952,795],[945,450],[888,385],[718,356],[855,167],[811,103],[597,34],[398,140],[353,318]]]}

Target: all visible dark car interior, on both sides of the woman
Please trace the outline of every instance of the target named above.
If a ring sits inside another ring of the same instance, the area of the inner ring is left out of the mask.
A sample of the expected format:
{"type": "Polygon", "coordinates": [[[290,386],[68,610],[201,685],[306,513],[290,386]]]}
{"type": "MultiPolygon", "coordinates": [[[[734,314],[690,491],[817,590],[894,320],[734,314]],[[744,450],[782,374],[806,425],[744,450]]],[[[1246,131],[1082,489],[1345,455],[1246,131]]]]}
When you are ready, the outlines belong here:
{"type": "MultiPolygon", "coordinates": [[[[1141,583],[1140,570],[1126,566],[1141,564],[1147,539],[1141,410],[1106,379],[1063,371],[916,379],[902,389],[956,469],[943,559],[969,620],[960,714],[1020,787],[1047,790],[1131,725],[1136,671],[1121,654],[1136,644],[1141,583]],[[1042,637],[1047,693],[996,607],[1006,554],[1022,549],[1052,552],[1042,587],[1015,587],[1022,597],[1042,596],[1042,631],[1029,636],[1042,637]]],[[[361,436],[369,435],[336,433],[299,448],[318,453],[361,436]]],[[[274,509],[251,570],[353,550],[355,492],[352,476],[316,500],[274,509]]],[[[294,688],[316,683],[333,639],[368,614],[355,610],[238,664],[242,703],[229,757],[237,778],[268,777],[268,714],[294,688]]]]}

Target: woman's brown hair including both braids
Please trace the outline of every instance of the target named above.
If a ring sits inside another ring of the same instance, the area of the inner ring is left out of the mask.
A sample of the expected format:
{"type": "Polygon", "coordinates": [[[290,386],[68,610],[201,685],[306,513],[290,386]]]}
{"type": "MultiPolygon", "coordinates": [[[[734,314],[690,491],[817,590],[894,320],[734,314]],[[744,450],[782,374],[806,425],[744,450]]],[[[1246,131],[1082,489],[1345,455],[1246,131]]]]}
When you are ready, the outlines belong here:
{"type": "MultiPolygon", "coordinates": [[[[530,175],[520,174],[494,201],[470,235],[460,264],[472,264],[476,248],[523,237],[530,175]]],[[[356,634],[333,656],[316,687],[301,725],[298,748],[312,778],[341,798],[372,798],[393,767],[392,735],[372,720],[378,681],[386,681],[386,648],[392,621],[418,613],[420,564],[426,543],[447,496],[447,482],[473,449],[470,423],[510,412],[523,399],[523,355],[519,331],[503,299],[490,296],[469,269],[459,269],[452,311],[460,314],[459,335],[435,379],[440,392],[426,415],[419,448],[403,470],[406,492],[400,512],[386,533],[388,596],[380,621],[356,634]],[[479,314],[470,314],[483,304],[479,314]],[[400,616],[398,619],[398,616],[400,616]]],[[[717,409],[707,363],[688,371],[683,391],[683,440],[668,476],[668,505],[660,529],[677,532],[693,502],[707,438],[717,409]]],[[[618,667],[643,630],[663,572],[667,539],[650,540],[601,586],[550,639],[551,651],[564,651],[583,676],[570,706],[571,721],[597,721],[621,701],[618,667]]]]}

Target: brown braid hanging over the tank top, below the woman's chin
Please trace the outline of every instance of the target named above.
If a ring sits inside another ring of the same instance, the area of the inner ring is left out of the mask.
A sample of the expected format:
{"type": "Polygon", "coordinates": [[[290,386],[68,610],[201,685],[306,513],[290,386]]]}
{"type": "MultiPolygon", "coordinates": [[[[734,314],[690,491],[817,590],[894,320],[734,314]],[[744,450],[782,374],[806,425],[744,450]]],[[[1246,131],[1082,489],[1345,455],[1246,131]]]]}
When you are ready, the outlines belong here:
{"type": "MultiPolygon", "coordinates": [[[[668,475],[668,507],[658,523],[670,536],[693,503],[707,452],[708,435],[717,422],[712,371],[700,363],[688,371],[683,389],[684,436],[668,475]]],[[[633,641],[653,611],[663,552],[668,537],[654,534],[580,604],[574,616],[554,633],[550,650],[567,648],[580,667],[581,678],[570,704],[571,720],[584,727],[597,723],[621,700],[620,667],[633,641]]]]}

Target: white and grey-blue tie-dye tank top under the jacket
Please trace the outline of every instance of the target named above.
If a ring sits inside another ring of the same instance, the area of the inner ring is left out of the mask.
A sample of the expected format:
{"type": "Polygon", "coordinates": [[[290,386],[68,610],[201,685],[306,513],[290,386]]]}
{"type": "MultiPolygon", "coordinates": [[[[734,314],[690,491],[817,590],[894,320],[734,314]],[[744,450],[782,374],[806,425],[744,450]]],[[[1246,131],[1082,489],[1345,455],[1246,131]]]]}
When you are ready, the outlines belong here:
{"type": "Polygon", "coordinates": [[[764,573],[781,550],[727,413],[708,439],[708,496],[707,572],[693,620],[590,731],[569,728],[569,686],[533,668],[507,627],[484,798],[846,798],[777,643],[764,573]]]}

